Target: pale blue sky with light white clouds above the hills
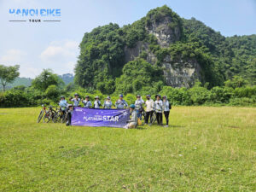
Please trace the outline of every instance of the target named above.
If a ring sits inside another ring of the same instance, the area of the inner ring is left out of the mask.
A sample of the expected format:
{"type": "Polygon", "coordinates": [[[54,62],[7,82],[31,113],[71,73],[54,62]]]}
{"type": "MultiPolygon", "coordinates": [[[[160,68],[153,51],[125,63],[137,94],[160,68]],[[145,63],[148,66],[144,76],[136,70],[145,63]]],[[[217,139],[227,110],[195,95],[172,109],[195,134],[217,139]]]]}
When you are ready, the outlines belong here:
{"type": "Polygon", "coordinates": [[[110,22],[131,24],[163,5],[185,19],[195,17],[224,36],[256,34],[256,0],[0,0],[0,64],[20,65],[20,77],[44,68],[73,73],[84,32],[110,22]],[[9,9],[61,9],[60,22],[9,14],[9,9]]]}

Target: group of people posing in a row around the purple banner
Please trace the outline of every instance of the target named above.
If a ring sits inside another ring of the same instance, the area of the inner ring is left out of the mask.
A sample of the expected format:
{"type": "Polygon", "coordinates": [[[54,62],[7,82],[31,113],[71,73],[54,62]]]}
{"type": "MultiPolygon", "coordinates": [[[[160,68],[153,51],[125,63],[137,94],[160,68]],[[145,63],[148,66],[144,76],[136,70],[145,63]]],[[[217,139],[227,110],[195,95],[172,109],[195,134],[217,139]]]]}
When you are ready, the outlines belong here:
{"type": "MultiPolygon", "coordinates": [[[[129,128],[133,128],[137,126],[137,119],[142,119],[143,110],[145,107],[145,124],[151,125],[153,114],[155,112],[156,120],[158,125],[162,125],[163,122],[163,113],[165,114],[166,118],[166,126],[169,124],[169,113],[170,109],[172,108],[170,102],[167,100],[167,96],[163,96],[161,98],[160,95],[155,96],[155,101],[151,98],[150,95],[146,96],[147,100],[146,102],[143,101],[142,96],[137,95],[137,100],[134,102],[134,104],[130,105],[130,113],[131,113],[131,119],[129,120],[129,128]]],[[[99,96],[95,96],[95,101],[90,102],[90,96],[85,96],[85,98],[79,98],[79,94],[74,94],[74,97],[69,98],[70,102],[73,102],[73,104],[68,104],[67,100],[65,99],[65,96],[61,96],[61,101],[59,102],[59,106],[61,108],[61,111],[68,111],[67,115],[67,125],[70,125],[71,122],[71,111],[73,110],[73,107],[80,107],[80,102],[84,104],[84,108],[106,108],[111,109],[113,106],[117,109],[123,109],[128,107],[128,103],[125,102],[124,96],[119,95],[119,99],[113,104],[111,101],[110,96],[106,98],[106,100],[103,102],[100,101],[99,96]]]]}

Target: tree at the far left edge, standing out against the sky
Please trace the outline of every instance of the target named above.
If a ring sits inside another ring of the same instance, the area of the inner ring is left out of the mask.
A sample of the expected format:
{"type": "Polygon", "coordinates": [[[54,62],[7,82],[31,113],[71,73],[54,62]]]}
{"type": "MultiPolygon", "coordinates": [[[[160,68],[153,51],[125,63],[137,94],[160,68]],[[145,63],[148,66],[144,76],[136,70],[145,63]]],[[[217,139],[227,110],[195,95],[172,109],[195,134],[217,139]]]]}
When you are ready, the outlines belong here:
{"type": "Polygon", "coordinates": [[[5,91],[6,84],[12,83],[15,78],[19,77],[19,68],[19,65],[9,67],[0,65],[0,81],[3,86],[3,91],[5,91]]]}

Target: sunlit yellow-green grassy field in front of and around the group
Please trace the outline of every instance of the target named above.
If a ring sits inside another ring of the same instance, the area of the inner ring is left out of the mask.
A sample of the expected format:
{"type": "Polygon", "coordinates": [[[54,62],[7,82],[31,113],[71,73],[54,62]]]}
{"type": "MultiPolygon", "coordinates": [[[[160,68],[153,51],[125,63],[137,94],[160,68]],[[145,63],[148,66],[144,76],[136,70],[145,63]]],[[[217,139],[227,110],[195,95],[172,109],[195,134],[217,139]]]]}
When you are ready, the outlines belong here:
{"type": "Polygon", "coordinates": [[[256,108],[174,107],[171,126],[36,123],[0,108],[0,191],[255,191],[256,108]]]}

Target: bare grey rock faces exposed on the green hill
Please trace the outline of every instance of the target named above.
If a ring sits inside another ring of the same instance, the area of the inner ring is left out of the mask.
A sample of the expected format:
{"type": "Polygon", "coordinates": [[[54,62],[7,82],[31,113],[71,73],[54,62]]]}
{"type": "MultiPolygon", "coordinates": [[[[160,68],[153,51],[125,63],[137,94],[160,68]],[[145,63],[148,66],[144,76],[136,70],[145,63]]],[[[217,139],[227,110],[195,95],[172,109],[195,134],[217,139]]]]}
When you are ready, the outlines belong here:
{"type": "MultiPolygon", "coordinates": [[[[166,17],[159,22],[151,22],[149,26],[146,26],[146,30],[148,33],[154,34],[160,47],[167,48],[181,38],[181,30],[178,27],[172,28],[171,26],[172,18],[166,17]]],[[[150,52],[148,46],[148,43],[139,41],[133,48],[125,47],[125,62],[134,60],[145,51],[147,53],[147,61],[154,65],[157,58],[150,52]]],[[[183,58],[179,58],[176,61],[172,61],[171,55],[167,55],[161,64],[167,85],[172,87],[191,87],[196,79],[201,80],[201,67],[195,59],[183,60],[183,58]]]]}

